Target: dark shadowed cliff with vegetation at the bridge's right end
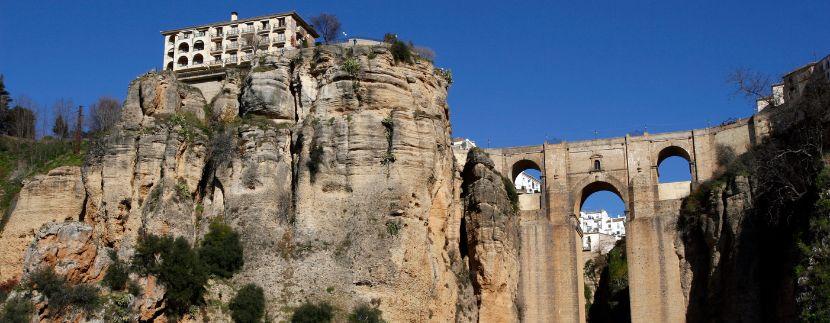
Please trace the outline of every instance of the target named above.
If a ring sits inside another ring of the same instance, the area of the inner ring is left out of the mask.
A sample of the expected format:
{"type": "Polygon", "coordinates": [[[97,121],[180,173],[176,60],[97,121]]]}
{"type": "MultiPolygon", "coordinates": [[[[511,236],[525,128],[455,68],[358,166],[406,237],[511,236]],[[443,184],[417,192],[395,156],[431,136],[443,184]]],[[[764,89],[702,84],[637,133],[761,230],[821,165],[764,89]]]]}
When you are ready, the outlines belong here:
{"type": "Polygon", "coordinates": [[[771,136],[684,200],[678,219],[691,270],[687,321],[824,322],[830,253],[826,194],[830,91],[812,82],[772,109],[771,136]]]}

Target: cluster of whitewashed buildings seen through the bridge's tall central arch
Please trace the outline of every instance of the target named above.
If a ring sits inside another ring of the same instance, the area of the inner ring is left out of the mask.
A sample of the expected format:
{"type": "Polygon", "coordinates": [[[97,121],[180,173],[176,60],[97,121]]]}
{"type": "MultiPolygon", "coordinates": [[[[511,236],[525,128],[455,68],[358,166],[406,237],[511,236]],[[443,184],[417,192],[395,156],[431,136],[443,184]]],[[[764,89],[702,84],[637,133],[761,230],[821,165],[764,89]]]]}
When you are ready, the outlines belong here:
{"type": "Polygon", "coordinates": [[[583,251],[605,254],[625,237],[625,216],[611,217],[605,210],[583,211],[579,215],[583,251]]]}

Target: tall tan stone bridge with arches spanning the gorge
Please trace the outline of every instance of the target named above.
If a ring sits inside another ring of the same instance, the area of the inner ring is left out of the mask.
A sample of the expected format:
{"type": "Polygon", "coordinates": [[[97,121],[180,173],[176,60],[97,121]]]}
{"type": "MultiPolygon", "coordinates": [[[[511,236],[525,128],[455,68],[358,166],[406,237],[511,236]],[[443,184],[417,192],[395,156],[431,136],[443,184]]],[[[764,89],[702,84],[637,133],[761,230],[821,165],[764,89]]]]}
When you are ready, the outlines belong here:
{"type": "Polygon", "coordinates": [[[687,294],[675,251],[682,199],[715,175],[718,151],[741,154],[768,129],[768,119],[755,115],[706,129],[485,149],[511,179],[528,169],[541,172],[542,193],[520,196],[522,320],[585,322],[578,216],[589,195],[607,190],[622,199],[628,216],[632,321],[685,321],[687,294]],[[689,162],[691,182],[658,182],[658,165],[672,156],[689,162]]]}

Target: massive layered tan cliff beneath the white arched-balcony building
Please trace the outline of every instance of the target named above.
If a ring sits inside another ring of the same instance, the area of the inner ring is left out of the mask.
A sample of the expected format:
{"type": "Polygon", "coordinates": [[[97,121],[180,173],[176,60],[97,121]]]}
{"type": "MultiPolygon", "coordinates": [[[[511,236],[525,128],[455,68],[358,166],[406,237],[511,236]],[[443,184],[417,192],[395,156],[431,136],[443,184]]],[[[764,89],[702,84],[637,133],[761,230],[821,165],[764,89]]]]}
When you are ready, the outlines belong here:
{"type": "MultiPolygon", "coordinates": [[[[448,81],[429,62],[396,62],[384,45],[324,46],[267,57],[221,86],[208,102],[171,73],[133,81],[121,121],[90,147],[82,188],[48,193],[78,214],[3,236],[34,237],[20,272],[52,266],[78,282],[100,280],[108,251],[127,260],[145,234],[197,243],[218,220],[240,233],[244,267],[212,281],[210,300],[227,302],[253,282],[274,320],[304,301],[344,312],[372,304],[396,322],[471,321],[478,306],[488,309],[482,317],[515,317],[515,254],[497,255],[512,248],[515,227],[502,234],[492,228],[501,223],[471,217],[484,257],[472,262],[499,258],[475,280],[492,290],[480,293],[484,305],[460,265],[448,81]]],[[[52,207],[24,201],[16,214],[52,207]]],[[[132,308],[160,319],[163,289],[141,283],[132,308]]],[[[194,315],[229,320],[222,311],[194,315]]]]}

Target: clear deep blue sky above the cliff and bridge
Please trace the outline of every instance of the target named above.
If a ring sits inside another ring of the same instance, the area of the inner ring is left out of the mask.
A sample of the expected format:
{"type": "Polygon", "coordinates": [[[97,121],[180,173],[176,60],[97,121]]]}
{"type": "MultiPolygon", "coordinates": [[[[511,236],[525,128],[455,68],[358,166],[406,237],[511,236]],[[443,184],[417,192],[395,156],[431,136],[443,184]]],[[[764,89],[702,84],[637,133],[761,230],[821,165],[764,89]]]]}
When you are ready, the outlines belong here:
{"type": "MultiPolygon", "coordinates": [[[[451,68],[453,135],[481,146],[706,127],[747,116],[730,71],[780,76],[830,54],[830,1],[2,1],[0,73],[44,105],[123,99],[159,31],[296,10],[397,33],[451,68]]],[[[613,212],[613,210],[612,210],[613,212]]]]}

